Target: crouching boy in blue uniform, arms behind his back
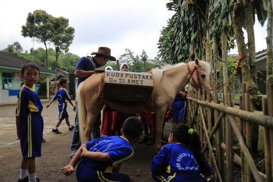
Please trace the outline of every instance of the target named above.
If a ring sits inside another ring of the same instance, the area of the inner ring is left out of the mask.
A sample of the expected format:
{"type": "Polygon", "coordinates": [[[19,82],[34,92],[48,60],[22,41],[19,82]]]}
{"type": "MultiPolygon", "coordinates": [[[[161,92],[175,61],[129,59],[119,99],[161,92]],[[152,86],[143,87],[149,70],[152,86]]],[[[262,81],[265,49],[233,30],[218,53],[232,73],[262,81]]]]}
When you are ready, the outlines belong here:
{"type": "Polygon", "coordinates": [[[138,142],[143,131],[139,118],[129,117],[124,121],[121,136],[102,136],[83,144],[69,165],[61,170],[65,175],[76,171],[78,181],[123,181],[132,182],[133,178],[119,173],[122,162],[133,156],[131,145],[138,142]]]}

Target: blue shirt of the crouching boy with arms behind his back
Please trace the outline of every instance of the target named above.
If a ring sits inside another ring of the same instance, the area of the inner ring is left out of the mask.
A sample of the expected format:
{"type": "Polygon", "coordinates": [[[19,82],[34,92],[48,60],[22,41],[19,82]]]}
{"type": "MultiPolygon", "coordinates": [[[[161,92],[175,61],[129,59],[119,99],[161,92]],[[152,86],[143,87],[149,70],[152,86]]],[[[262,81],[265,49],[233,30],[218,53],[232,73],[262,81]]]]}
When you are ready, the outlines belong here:
{"type": "Polygon", "coordinates": [[[111,162],[99,162],[88,158],[81,159],[84,167],[89,169],[112,173],[113,168],[133,156],[133,150],[127,139],[122,136],[102,136],[99,139],[85,143],[90,152],[107,152],[111,157],[111,162]]]}

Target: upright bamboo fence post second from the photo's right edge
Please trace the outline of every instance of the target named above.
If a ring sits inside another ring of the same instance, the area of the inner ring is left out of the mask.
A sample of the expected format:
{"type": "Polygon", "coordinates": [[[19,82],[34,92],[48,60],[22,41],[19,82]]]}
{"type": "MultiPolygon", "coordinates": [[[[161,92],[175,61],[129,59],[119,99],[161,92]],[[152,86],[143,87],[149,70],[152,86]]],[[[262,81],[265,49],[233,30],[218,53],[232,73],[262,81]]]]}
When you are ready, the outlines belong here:
{"type": "MultiPolygon", "coordinates": [[[[245,93],[245,110],[246,111],[250,111],[250,94],[249,93],[245,93]]],[[[248,150],[250,152],[250,154],[252,153],[251,151],[251,122],[250,121],[246,121],[246,144],[248,147],[248,150]]],[[[249,168],[248,163],[246,163],[246,181],[250,182],[251,181],[251,171],[249,168]]]]}

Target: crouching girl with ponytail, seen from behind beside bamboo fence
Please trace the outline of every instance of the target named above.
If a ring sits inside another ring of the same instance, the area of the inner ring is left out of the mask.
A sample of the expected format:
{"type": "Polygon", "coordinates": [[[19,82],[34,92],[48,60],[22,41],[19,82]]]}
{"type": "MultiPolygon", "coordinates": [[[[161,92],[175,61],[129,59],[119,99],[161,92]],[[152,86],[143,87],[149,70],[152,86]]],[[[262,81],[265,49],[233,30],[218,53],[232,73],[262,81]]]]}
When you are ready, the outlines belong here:
{"type": "Polygon", "coordinates": [[[201,152],[197,132],[186,124],[176,124],[169,135],[169,144],[155,156],[151,164],[155,181],[201,182],[213,174],[201,152]]]}

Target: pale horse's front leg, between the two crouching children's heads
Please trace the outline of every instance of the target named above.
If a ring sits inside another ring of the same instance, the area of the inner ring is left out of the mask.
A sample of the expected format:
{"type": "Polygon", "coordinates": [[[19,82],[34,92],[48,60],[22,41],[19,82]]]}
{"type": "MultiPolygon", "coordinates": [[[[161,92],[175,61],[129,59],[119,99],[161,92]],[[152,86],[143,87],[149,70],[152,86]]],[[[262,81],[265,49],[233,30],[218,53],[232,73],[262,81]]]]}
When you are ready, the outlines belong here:
{"type": "Polygon", "coordinates": [[[161,146],[161,135],[163,131],[163,121],[164,121],[165,109],[160,109],[155,111],[155,118],[156,118],[156,125],[155,125],[155,134],[156,134],[156,141],[155,141],[155,148],[156,152],[158,153],[162,146],[161,146]]]}

